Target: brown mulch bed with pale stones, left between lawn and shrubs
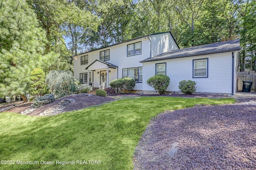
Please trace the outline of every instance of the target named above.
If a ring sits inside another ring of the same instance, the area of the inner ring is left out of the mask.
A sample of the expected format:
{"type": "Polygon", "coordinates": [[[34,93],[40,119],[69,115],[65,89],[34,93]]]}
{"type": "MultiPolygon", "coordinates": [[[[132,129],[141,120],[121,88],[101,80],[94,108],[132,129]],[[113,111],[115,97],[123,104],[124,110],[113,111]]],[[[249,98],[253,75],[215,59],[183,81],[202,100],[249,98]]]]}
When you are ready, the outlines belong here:
{"type": "MultiPolygon", "coordinates": [[[[85,95],[79,95],[79,94],[73,94],[64,98],[60,98],[58,100],[55,100],[54,102],[50,103],[50,104],[46,104],[42,107],[39,107],[37,109],[35,109],[34,111],[32,111],[31,113],[29,113],[28,115],[32,115],[32,116],[37,116],[40,113],[44,112],[45,110],[49,109],[49,108],[57,108],[59,107],[58,103],[61,100],[65,100],[65,99],[74,99],[76,102],[74,103],[70,103],[68,105],[66,105],[64,107],[64,112],[66,111],[73,111],[73,110],[79,110],[79,109],[83,109],[86,107],[90,107],[90,106],[95,106],[95,105],[99,105],[102,104],[104,102],[110,102],[113,101],[115,99],[113,98],[109,98],[109,97],[101,97],[101,96],[85,96],[85,95]]],[[[16,105],[12,108],[6,109],[3,112],[14,112],[14,113],[20,113],[22,111],[25,111],[26,109],[32,109],[33,107],[32,102],[30,103],[24,103],[22,104],[21,102],[19,102],[18,104],[12,104],[12,105],[16,105]]],[[[12,105],[8,105],[8,106],[12,106],[12,105]]],[[[0,107],[8,107],[8,106],[2,106],[0,107]]]]}

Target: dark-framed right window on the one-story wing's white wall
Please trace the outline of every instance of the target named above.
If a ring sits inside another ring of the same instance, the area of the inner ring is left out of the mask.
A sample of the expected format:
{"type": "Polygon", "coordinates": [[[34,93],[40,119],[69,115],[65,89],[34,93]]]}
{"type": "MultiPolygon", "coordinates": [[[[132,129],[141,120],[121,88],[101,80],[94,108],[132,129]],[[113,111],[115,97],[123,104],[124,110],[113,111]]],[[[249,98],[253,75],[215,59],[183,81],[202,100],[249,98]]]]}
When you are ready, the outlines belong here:
{"type": "Polygon", "coordinates": [[[208,58],[193,60],[193,78],[208,77],[208,58]]]}

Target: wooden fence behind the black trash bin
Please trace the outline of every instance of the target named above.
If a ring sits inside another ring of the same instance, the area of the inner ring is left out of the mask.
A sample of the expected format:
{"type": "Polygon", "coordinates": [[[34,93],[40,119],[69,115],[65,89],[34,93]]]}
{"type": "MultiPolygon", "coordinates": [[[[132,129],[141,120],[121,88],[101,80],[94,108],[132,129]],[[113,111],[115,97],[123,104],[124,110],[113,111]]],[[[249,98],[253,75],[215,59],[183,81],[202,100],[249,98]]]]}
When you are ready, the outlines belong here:
{"type": "Polygon", "coordinates": [[[237,72],[237,78],[238,91],[243,89],[243,81],[253,81],[251,90],[256,90],[256,72],[237,72]]]}

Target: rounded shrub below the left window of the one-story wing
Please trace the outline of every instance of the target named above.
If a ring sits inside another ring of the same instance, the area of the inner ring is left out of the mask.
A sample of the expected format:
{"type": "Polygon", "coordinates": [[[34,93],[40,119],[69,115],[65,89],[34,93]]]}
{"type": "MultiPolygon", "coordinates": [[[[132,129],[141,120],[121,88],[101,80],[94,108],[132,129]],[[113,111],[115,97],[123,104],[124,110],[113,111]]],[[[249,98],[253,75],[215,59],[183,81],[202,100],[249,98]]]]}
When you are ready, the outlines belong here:
{"type": "Polygon", "coordinates": [[[147,84],[158,91],[159,94],[164,94],[170,84],[170,77],[167,75],[156,75],[147,80],[147,84]]]}

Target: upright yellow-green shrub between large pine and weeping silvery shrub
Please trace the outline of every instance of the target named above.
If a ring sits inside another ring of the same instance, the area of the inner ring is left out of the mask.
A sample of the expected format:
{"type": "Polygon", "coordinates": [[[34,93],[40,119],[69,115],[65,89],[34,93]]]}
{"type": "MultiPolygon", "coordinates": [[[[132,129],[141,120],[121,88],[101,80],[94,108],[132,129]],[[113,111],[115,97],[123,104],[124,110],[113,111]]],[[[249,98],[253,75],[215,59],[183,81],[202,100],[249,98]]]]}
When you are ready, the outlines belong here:
{"type": "Polygon", "coordinates": [[[45,73],[41,68],[36,68],[30,75],[30,79],[34,82],[30,86],[30,92],[33,96],[44,96],[45,94],[50,93],[47,84],[45,83],[45,73]]]}

